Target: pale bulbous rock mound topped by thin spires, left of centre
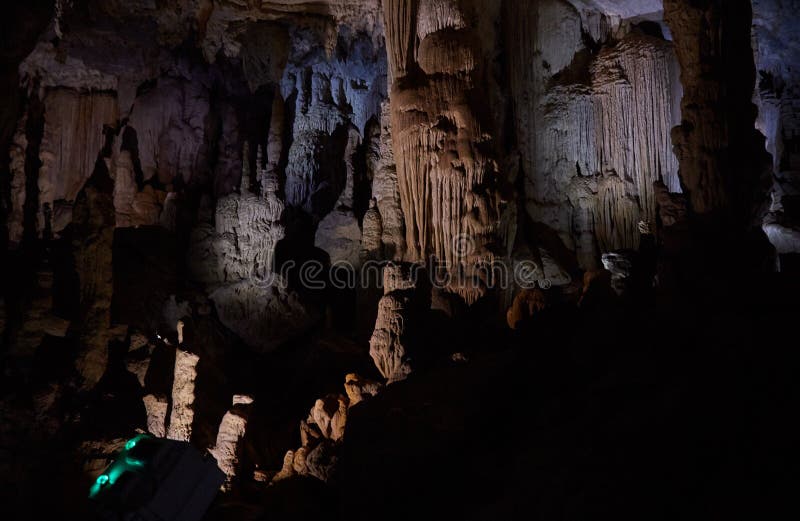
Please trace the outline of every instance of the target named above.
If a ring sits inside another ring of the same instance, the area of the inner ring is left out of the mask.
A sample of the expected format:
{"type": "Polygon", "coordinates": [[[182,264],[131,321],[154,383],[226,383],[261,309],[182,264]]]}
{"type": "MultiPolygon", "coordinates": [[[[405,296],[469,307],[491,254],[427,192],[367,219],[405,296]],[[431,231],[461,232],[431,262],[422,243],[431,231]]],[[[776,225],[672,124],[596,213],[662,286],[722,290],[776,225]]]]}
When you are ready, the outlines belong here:
{"type": "Polygon", "coordinates": [[[244,161],[239,193],[220,198],[213,225],[205,221],[195,228],[189,266],[206,284],[223,324],[251,347],[268,350],[300,331],[309,315],[274,271],[275,246],[284,236],[284,204],[260,150],[256,179],[264,184],[261,195],[251,190],[244,161]]]}

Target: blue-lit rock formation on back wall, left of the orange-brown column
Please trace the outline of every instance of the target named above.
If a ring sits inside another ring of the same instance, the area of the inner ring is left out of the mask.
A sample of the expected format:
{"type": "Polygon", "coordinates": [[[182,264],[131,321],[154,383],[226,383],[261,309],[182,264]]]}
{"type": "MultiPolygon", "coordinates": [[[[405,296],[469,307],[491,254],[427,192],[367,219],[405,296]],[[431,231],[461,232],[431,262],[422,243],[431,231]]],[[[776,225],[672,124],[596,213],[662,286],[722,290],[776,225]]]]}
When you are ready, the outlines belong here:
{"type": "MultiPolygon", "coordinates": [[[[342,36],[340,34],[340,36],[342,36]]],[[[366,35],[339,42],[340,59],[317,47],[314,36],[293,35],[295,51],[281,80],[280,94],[293,98],[293,142],[286,167],[286,203],[322,218],[336,207],[352,173],[351,126],[364,135],[386,96],[382,48],[366,35]]],[[[359,182],[359,179],[354,179],[359,182]]],[[[354,188],[351,185],[351,189],[354,188]]]]}

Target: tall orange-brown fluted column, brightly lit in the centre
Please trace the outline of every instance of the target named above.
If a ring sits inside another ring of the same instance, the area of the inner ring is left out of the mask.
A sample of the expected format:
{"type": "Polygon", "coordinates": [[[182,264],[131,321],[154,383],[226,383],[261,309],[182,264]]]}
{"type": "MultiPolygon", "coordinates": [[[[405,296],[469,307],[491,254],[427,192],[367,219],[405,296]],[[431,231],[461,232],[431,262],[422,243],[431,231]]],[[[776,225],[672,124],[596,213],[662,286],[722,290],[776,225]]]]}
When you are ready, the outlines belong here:
{"type": "Polygon", "coordinates": [[[453,291],[471,302],[484,282],[474,280],[474,266],[491,257],[498,214],[490,187],[498,168],[476,101],[481,51],[467,22],[474,19],[470,4],[390,0],[384,15],[406,259],[435,256],[452,275],[453,291]]]}

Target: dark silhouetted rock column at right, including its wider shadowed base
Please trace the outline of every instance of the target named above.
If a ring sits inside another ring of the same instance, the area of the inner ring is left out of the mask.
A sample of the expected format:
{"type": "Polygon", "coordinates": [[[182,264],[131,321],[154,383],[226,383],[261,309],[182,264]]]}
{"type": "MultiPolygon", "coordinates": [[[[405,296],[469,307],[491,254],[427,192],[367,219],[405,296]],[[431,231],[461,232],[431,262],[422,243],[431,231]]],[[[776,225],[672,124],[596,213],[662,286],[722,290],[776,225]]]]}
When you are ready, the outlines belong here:
{"type": "Polygon", "coordinates": [[[769,159],[755,129],[749,0],[665,0],[684,96],[672,131],[688,203],[688,229],[662,253],[662,281],[704,294],[764,270],[772,255],[760,229],[769,159]],[[735,261],[733,260],[735,259],[735,261]]]}

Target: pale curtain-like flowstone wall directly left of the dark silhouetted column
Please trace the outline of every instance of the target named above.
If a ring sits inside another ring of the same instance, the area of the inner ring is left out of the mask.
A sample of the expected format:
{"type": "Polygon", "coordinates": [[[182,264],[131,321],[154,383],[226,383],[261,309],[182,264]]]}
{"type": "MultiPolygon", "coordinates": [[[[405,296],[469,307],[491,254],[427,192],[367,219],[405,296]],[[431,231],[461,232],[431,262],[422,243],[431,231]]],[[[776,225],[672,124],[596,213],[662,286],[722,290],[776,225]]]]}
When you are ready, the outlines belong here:
{"type": "Polygon", "coordinates": [[[654,182],[681,190],[670,139],[680,99],[672,45],[639,31],[609,41],[614,23],[601,18],[604,30],[593,31],[585,11],[561,0],[510,2],[506,12],[526,210],[583,267],[638,247],[639,221],[655,221],[654,182]]]}

